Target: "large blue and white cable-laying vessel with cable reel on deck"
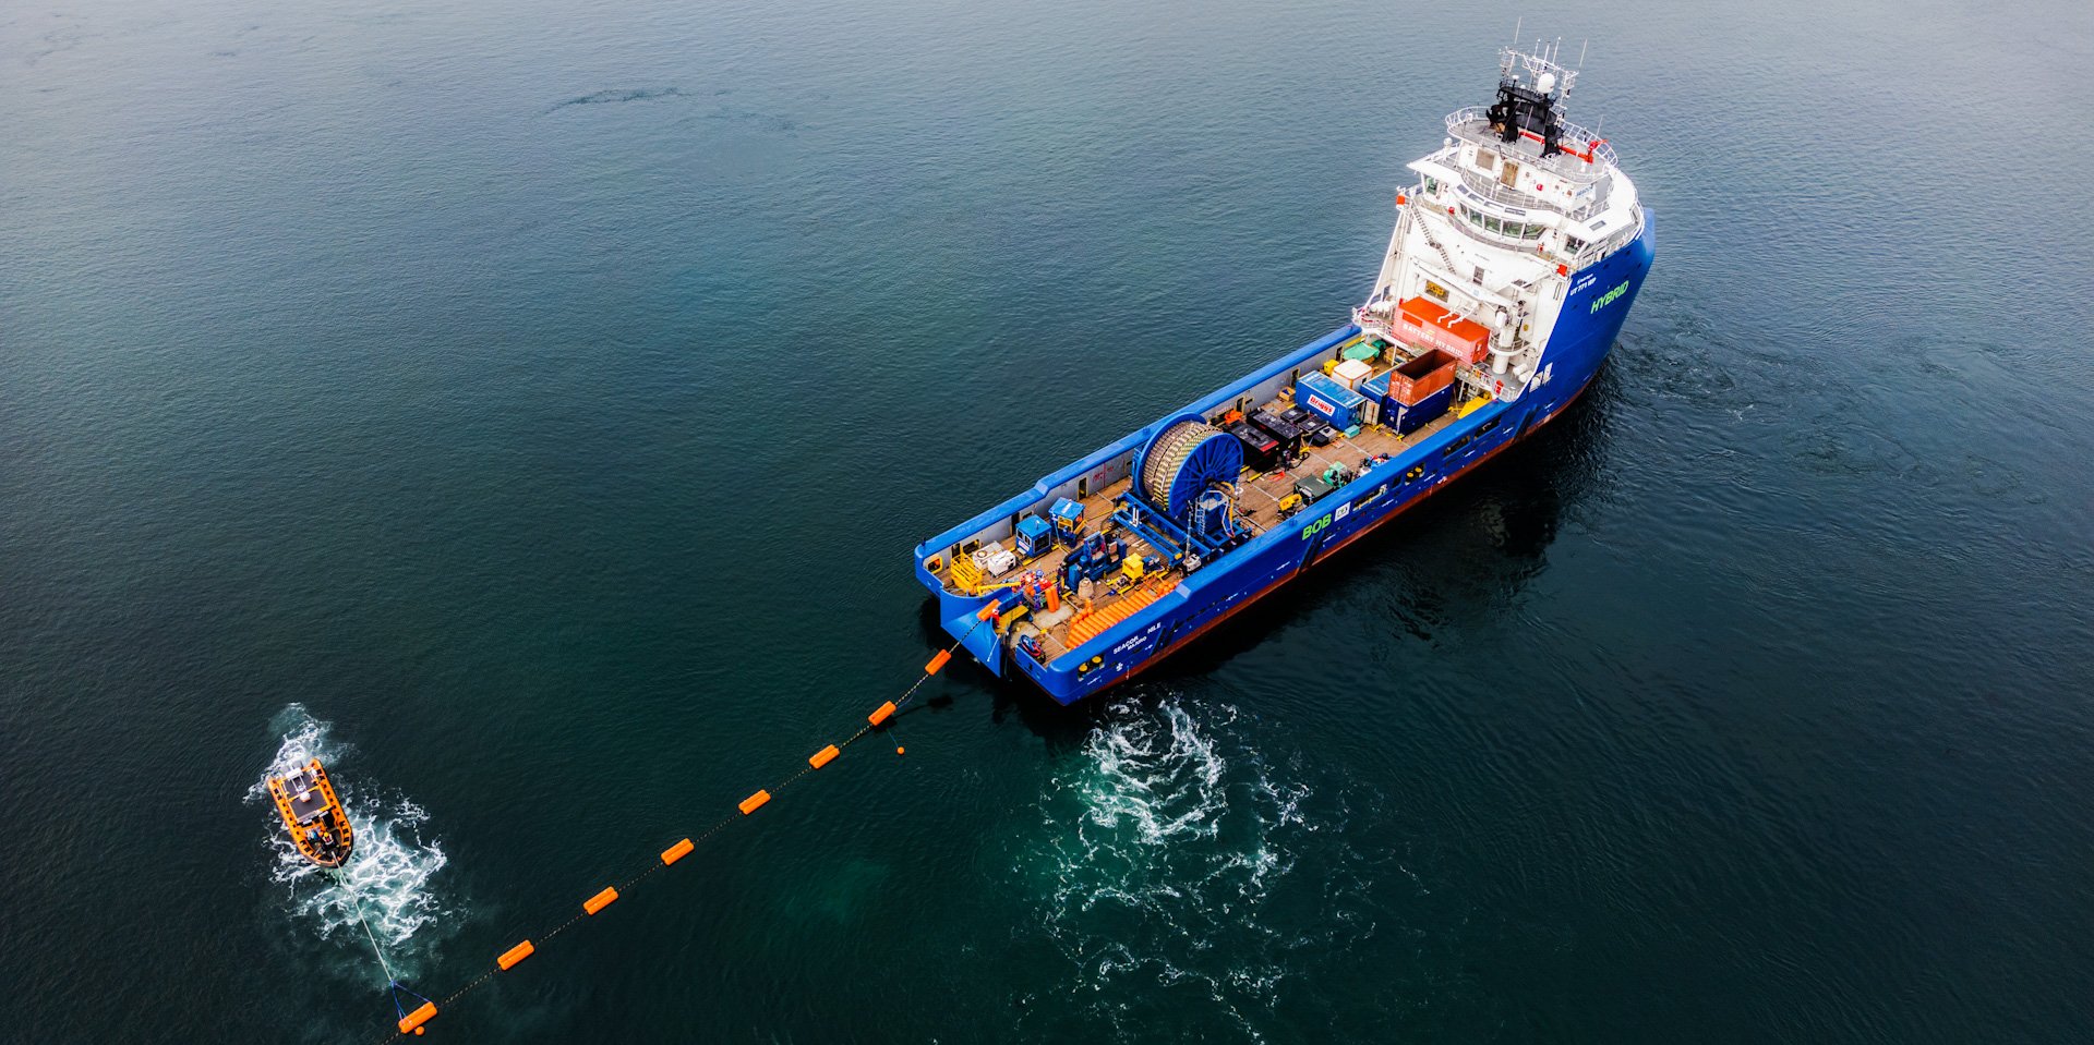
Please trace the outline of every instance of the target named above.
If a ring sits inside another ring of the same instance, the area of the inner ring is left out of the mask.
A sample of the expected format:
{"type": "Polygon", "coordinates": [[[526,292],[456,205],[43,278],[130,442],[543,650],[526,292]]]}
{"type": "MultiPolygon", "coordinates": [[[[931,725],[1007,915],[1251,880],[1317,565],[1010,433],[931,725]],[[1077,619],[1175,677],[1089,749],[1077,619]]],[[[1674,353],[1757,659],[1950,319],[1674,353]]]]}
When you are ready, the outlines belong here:
{"type": "Polygon", "coordinates": [[[1344,327],[917,544],[942,626],[1072,704],[1562,413],[1644,285],[1652,216],[1564,119],[1556,57],[1506,48],[1495,103],[1409,163],[1344,327]]]}

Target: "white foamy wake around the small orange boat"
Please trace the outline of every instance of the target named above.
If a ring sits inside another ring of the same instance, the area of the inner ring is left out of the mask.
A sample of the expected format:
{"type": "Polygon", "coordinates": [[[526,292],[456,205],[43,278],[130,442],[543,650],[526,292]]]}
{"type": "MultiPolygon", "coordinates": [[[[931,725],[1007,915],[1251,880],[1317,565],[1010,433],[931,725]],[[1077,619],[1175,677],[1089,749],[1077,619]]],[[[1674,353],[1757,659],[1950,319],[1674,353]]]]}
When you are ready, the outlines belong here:
{"type": "Polygon", "coordinates": [[[281,737],[276,756],[247,790],[247,802],[270,810],[268,850],[274,857],[270,882],[285,888],[289,913],[310,924],[322,940],[350,932],[360,942],[360,909],[396,972],[404,974],[400,970],[408,957],[404,944],[415,934],[440,926],[446,915],[431,880],[448,859],[436,840],[425,836],[429,815],[404,796],[379,796],[354,773],[335,773],[341,808],[356,833],[356,852],[335,875],[314,867],[299,857],[276,821],[268,779],[291,773],[308,758],[318,758],[333,771],[337,762],[354,756],[354,748],[335,741],[327,722],[312,718],[299,704],[279,712],[270,729],[281,737]]]}

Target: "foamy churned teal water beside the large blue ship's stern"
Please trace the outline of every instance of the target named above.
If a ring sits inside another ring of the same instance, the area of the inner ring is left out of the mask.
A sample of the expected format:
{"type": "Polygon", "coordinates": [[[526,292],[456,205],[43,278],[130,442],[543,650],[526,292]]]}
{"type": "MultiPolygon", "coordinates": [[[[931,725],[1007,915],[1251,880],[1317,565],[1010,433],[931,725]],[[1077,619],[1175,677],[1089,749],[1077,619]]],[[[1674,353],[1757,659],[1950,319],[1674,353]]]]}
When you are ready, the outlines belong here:
{"type": "Polygon", "coordinates": [[[1338,842],[1342,796],[1315,804],[1328,823],[1305,817],[1309,785],[1267,764],[1231,706],[1120,697],[1104,714],[1018,857],[1076,982],[1018,1001],[1053,1037],[1143,1039],[1164,1014],[1204,1011],[1202,1032],[1263,1039],[1311,955],[1374,930],[1363,861],[1338,842]]]}

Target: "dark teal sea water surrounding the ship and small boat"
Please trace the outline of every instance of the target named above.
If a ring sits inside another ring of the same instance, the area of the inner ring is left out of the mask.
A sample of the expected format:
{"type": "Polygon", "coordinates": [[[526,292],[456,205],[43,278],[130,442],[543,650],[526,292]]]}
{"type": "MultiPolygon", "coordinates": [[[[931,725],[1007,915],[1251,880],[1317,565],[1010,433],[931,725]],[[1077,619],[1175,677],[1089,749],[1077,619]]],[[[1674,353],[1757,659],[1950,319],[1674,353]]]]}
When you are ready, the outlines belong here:
{"type": "Polygon", "coordinates": [[[1342,323],[1493,48],[1552,429],[1095,706],[955,666],[425,1041],[2094,1039],[2077,2],[0,10],[0,1039],[379,1041],[856,729],[909,549],[1342,323]]]}

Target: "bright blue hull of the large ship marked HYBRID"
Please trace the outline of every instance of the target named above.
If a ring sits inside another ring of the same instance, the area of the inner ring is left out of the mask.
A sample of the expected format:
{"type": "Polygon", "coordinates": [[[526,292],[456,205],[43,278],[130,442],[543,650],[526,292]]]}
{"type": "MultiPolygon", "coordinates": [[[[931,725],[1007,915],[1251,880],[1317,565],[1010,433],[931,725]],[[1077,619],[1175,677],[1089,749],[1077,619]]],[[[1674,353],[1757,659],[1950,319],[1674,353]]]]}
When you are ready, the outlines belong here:
{"type": "MultiPolygon", "coordinates": [[[[1543,350],[1535,381],[1514,402],[1491,402],[1447,425],[1395,459],[1372,467],[1332,496],[1317,501],[1248,544],[1198,570],[1154,605],[1114,624],[1078,649],[1047,664],[1028,655],[1011,655],[993,628],[978,626],[978,614],[990,603],[1009,605],[1005,593],[967,597],[944,588],[926,561],[980,532],[995,519],[1007,519],[1037,505],[1049,490],[1089,473],[1106,461],[1145,444],[1166,419],[1133,431],[1112,446],[1043,477],[1032,490],[997,505],[982,515],[938,534],[915,549],[917,580],[938,599],[938,618],[946,632],[961,641],[990,672],[999,676],[1018,670],[1039,683],[1060,704],[1074,704],[1137,672],[1191,643],[1238,609],[1263,599],[1277,586],[1328,559],[1338,549],[1359,540],[1376,526],[1401,515],[1411,505],[1432,496],[1457,475],[1489,461],[1493,454],[1531,436],[1568,406],[1591,383],[1621,333],[1621,325],[1650,272],[1654,251],[1654,218],[1646,212],[1644,230],[1625,247],[1577,274],[1564,297],[1564,308],[1543,350]]],[[[1196,400],[1185,410],[1208,415],[1273,375],[1302,366],[1305,360],[1330,352],[1359,333],[1342,327],[1288,356],[1244,375],[1242,379],[1196,400]]]]}

